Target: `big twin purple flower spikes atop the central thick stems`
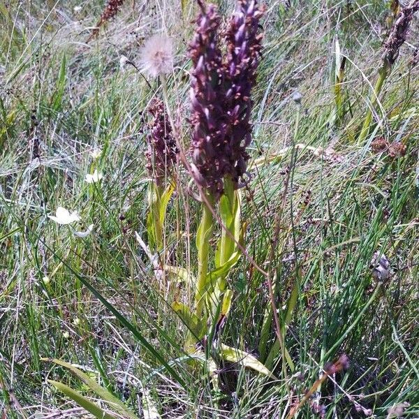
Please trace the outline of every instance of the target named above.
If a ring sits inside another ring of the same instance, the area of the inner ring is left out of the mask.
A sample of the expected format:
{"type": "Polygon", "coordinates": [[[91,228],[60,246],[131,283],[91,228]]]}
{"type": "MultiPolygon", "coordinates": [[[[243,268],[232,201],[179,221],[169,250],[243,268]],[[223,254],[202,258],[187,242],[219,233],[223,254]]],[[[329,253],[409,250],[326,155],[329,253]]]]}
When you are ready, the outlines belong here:
{"type": "Polygon", "coordinates": [[[189,46],[193,62],[191,167],[196,182],[219,198],[224,178],[230,177],[238,189],[247,170],[251,89],[260,59],[263,8],[256,0],[240,0],[221,38],[215,6],[199,3],[201,13],[189,46]],[[221,41],[227,47],[224,57],[221,41]]]}

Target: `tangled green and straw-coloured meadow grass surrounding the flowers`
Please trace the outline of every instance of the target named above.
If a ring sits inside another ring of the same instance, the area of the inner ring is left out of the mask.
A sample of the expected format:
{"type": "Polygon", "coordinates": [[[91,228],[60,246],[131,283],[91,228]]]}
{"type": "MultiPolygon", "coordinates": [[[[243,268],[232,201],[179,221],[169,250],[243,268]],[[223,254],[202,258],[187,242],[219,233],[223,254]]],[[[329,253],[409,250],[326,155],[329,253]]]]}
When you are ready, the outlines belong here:
{"type": "MultiPolygon", "coordinates": [[[[242,257],[228,277],[233,307],[222,340],[263,360],[278,379],[219,362],[219,388],[191,364],[187,328],[170,307],[193,300],[194,290],[175,276],[156,277],[135,237],[147,237],[145,109],[159,83],[149,80],[149,89],[135,68],[119,68],[122,54],[137,62],[157,31],[174,38],[168,92],[189,144],[186,45],[196,5],[185,1],[182,12],[178,0],[127,0],[86,43],[103,1],[0,3],[3,418],[85,415],[46,378],[105,408],[68,369],[41,358],[78,366],[140,418],[285,418],[342,353],[349,368],[318,388],[301,417],[315,417],[317,402],[326,418],[419,417],[417,17],[359,142],[391,4],[265,3],[249,150],[256,163],[242,216],[249,256],[277,269],[275,301],[295,369],[285,380],[274,325],[266,322],[265,277],[242,257]],[[340,96],[337,40],[347,57],[340,96]],[[399,143],[406,147],[395,152],[399,143]],[[102,153],[94,160],[96,147],[102,153]],[[94,167],[103,180],[87,184],[94,167]],[[94,232],[80,239],[53,223],[47,214],[59,205],[78,210],[94,232]],[[371,269],[376,251],[392,267],[380,287],[371,269]]],[[[219,7],[228,16],[233,1],[219,7]]],[[[172,265],[195,273],[199,206],[180,166],[177,176],[167,249],[172,265]]]]}

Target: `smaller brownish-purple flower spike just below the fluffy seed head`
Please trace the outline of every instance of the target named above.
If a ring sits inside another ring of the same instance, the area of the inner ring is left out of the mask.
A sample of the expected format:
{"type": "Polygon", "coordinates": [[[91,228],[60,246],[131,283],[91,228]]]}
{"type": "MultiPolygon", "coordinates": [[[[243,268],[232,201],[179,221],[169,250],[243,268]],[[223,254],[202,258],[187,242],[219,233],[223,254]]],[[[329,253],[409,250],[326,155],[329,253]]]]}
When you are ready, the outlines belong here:
{"type": "Polygon", "coordinates": [[[172,138],[172,129],[163,102],[154,98],[148,111],[154,120],[152,129],[147,135],[147,169],[150,175],[156,179],[157,185],[161,186],[176,163],[176,141],[172,138]]]}

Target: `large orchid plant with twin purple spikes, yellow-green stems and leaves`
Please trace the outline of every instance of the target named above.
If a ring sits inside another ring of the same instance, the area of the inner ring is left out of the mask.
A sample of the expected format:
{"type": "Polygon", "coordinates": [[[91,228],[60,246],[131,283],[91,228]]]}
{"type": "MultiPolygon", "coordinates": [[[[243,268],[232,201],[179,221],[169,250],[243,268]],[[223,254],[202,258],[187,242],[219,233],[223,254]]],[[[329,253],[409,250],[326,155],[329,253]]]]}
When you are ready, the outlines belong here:
{"type": "MultiPolygon", "coordinates": [[[[201,347],[208,352],[219,341],[217,332],[230,311],[233,291],[228,288],[228,273],[242,254],[240,189],[249,180],[246,149],[251,143],[251,89],[262,47],[259,27],[263,9],[255,0],[239,1],[222,37],[216,7],[198,3],[200,15],[189,45],[193,63],[190,169],[202,202],[196,233],[198,276],[193,311],[181,302],[175,302],[173,308],[191,330],[187,351],[200,351],[201,347]],[[221,235],[212,258],[210,239],[218,223],[221,235]]],[[[240,358],[242,363],[270,374],[251,355],[218,346],[216,352],[221,358],[235,362],[240,358]]]]}

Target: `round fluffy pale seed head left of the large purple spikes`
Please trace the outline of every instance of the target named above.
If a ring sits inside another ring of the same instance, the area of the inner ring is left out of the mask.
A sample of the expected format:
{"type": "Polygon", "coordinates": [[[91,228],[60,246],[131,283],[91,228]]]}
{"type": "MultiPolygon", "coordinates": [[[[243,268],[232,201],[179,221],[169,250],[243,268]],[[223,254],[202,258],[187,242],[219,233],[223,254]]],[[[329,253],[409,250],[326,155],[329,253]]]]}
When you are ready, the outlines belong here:
{"type": "Polygon", "coordinates": [[[141,49],[141,70],[152,77],[172,71],[173,44],[167,36],[154,35],[141,49]]]}

